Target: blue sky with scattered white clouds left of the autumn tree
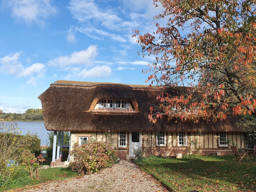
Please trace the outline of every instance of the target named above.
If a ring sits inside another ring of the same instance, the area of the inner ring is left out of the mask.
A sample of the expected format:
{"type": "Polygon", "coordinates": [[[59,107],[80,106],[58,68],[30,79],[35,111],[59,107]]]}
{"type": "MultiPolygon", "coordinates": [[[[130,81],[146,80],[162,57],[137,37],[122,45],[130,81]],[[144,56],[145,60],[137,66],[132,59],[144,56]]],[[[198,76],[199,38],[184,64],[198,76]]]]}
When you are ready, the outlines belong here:
{"type": "Polygon", "coordinates": [[[161,11],[151,0],[3,0],[0,109],[41,108],[57,80],[147,85],[154,58],[137,54],[132,30],[154,31],[161,11]]]}

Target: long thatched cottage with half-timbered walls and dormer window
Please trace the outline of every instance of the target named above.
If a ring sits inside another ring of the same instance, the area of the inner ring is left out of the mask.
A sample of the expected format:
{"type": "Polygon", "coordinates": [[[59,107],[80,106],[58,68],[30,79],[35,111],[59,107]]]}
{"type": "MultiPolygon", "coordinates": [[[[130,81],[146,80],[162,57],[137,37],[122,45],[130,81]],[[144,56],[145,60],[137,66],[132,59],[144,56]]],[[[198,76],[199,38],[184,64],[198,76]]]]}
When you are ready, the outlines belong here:
{"type": "MultiPolygon", "coordinates": [[[[138,147],[144,156],[198,150],[203,155],[217,151],[229,154],[227,140],[244,147],[242,130],[235,125],[237,117],[232,115],[216,123],[175,123],[167,118],[149,122],[149,107],[157,105],[154,91],[157,90],[144,85],[56,81],[38,98],[46,129],[55,131],[54,143],[57,131],[70,131],[69,150],[75,142],[81,144],[90,139],[111,140],[121,159],[133,157],[133,149],[138,147]]],[[[58,135],[57,160],[53,149],[53,162],[60,161],[63,151],[61,134],[58,135]]]]}

